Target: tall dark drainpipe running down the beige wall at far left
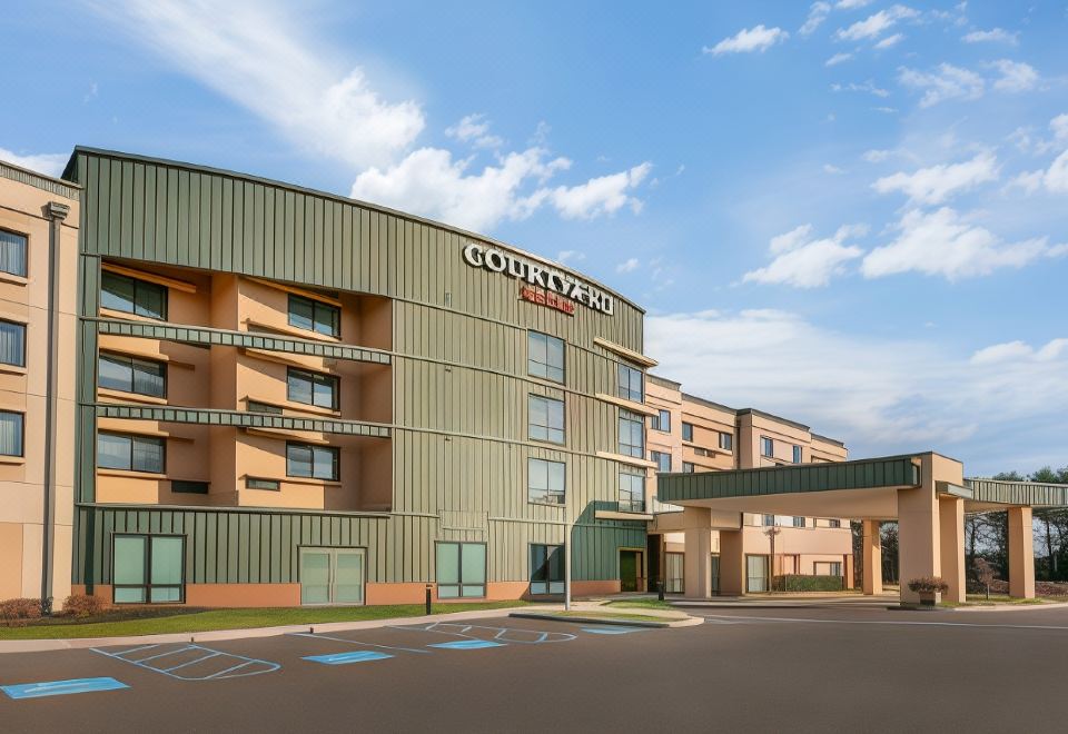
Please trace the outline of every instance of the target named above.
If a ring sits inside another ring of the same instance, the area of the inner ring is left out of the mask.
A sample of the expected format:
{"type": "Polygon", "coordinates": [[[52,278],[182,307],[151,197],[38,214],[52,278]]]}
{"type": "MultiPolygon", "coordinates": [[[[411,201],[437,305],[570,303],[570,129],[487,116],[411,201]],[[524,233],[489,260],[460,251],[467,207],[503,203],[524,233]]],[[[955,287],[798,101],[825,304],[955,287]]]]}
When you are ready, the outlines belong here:
{"type": "Polygon", "coordinates": [[[58,386],[56,355],[59,351],[59,250],[63,220],[70,207],[49,201],[44,215],[49,218],[48,234],[48,361],[44,375],[44,513],[41,535],[41,604],[51,612],[52,563],[56,535],[56,424],[58,386]]]}

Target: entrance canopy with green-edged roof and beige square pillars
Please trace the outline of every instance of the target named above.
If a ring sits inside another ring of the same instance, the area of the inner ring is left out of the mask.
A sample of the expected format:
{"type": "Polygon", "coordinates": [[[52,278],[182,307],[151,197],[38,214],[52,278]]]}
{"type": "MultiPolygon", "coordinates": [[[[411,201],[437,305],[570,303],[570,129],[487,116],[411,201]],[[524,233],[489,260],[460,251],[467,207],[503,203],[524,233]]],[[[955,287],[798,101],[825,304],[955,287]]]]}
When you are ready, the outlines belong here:
{"type": "MultiPolygon", "coordinates": [[[[863,523],[864,594],[882,593],[879,523],[898,522],[901,601],[908,581],[940,576],[945,601],[963,602],[965,513],[1008,510],[1009,594],[1035,596],[1034,507],[1068,507],[1068,485],[965,479],[960,462],[933,452],[733,472],[661,474],[657,499],[683,507],[685,588],[709,598],[711,533],[720,534],[720,593],[745,592],[745,555],[734,513],[849,517],[863,523]]],[[[736,517],[736,516],[735,516],[736,517]]]]}

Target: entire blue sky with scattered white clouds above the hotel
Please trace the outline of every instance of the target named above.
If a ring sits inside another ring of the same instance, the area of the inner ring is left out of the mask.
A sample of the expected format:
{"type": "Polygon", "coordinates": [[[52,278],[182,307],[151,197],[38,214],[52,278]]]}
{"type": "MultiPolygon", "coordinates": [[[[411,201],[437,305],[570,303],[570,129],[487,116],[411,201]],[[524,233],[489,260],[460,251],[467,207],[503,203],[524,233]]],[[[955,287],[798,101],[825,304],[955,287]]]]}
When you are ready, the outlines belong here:
{"type": "Polygon", "coordinates": [[[9,4],[0,157],[466,226],[631,296],[698,395],[1068,464],[1068,1],[211,4],[9,4]]]}

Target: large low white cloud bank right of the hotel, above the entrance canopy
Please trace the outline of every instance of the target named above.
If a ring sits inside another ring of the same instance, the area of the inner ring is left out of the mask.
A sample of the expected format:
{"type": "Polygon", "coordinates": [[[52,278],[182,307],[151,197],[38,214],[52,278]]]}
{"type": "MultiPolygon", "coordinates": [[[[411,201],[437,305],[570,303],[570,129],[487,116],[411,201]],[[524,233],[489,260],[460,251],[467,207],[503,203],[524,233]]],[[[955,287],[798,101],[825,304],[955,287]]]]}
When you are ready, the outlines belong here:
{"type": "Polygon", "coordinates": [[[1045,360],[976,361],[973,348],[939,333],[843,334],[780,310],[647,316],[645,333],[656,373],[688,393],[790,416],[846,440],[853,456],[959,455],[967,439],[991,446],[961,456],[982,472],[981,462],[1012,465],[1029,444],[1049,456],[1064,448],[1062,432],[1044,435],[1068,413],[1064,346],[1035,350],[1045,360]]]}

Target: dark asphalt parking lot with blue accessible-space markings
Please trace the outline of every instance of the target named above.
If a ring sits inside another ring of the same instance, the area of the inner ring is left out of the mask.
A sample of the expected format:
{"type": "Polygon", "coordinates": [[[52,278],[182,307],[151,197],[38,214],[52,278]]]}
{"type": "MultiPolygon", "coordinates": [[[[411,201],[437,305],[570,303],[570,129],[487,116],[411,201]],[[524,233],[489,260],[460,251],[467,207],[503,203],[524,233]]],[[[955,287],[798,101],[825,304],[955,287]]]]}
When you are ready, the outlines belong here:
{"type": "Polygon", "coordinates": [[[4,732],[1062,731],[1068,609],[698,608],[0,655],[4,732]]]}

